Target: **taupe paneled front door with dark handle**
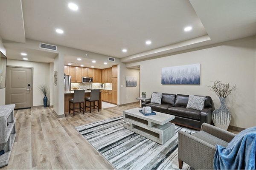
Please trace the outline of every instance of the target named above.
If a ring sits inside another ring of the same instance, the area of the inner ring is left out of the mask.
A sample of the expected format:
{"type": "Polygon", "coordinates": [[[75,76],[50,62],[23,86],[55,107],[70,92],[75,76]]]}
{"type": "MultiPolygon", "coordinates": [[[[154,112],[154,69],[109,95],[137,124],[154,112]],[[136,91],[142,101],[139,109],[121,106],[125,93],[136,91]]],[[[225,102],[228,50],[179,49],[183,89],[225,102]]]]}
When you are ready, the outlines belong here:
{"type": "Polygon", "coordinates": [[[31,68],[6,68],[6,105],[15,104],[15,109],[31,108],[31,68]]]}

